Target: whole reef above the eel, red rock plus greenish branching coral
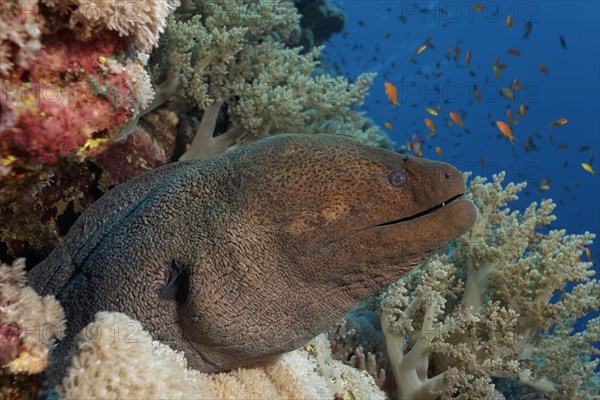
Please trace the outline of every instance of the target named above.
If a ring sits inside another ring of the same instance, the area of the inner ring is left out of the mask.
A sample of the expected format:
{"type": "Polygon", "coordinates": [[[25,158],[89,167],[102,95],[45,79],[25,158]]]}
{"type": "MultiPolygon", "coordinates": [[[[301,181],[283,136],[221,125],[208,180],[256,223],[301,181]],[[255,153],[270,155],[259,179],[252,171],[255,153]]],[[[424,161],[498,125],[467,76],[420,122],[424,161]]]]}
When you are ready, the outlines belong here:
{"type": "Polygon", "coordinates": [[[372,75],[316,75],[321,48],[286,47],[315,31],[315,18],[339,27],[335,6],[302,1],[301,15],[292,0],[178,5],[3,1],[0,257],[42,259],[106,190],[183,153],[282,132],[393,147],[353,109],[372,75]]]}

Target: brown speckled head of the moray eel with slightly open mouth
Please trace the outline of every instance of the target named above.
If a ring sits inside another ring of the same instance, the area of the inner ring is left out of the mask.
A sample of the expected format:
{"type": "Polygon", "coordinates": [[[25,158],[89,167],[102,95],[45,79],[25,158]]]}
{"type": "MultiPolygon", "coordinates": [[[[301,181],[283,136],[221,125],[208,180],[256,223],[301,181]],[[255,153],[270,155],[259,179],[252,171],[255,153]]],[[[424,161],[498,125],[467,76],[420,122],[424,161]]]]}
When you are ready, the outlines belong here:
{"type": "Polygon", "coordinates": [[[255,164],[261,171],[249,167],[252,190],[242,191],[252,218],[296,254],[331,257],[330,268],[389,265],[396,278],[475,221],[449,164],[342,136],[280,135],[263,144],[270,149],[255,164]]]}

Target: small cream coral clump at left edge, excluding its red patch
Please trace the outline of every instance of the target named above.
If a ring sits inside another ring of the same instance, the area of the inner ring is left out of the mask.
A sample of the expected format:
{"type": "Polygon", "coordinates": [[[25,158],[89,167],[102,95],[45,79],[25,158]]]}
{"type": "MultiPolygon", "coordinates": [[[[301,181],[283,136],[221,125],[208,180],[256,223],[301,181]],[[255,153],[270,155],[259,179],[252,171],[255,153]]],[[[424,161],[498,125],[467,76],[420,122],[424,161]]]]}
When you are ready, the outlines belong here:
{"type": "Polygon", "coordinates": [[[7,367],[12,374],[37,374],[46,369],[48,351],[64,334],[63,309],[54,296],[39,296],[26,286],[25,259],[0,265],[0,322],[15,326],[22,347],[7,367]]]}

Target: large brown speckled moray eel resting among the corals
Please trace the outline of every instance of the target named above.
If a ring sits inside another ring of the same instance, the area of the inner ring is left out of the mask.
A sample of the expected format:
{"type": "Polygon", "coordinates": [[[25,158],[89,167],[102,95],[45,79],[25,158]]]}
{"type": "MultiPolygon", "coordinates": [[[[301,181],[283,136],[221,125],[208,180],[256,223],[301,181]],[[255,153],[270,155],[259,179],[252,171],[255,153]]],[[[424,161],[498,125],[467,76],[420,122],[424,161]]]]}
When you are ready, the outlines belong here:
{"type": "Polygon", "coordinates": [[[204,372],[299,348],[467,231],[464,192],[448,164],[341,135],[277,135],[138,176],[28,274],[65,308],[50,377],[102,310],[204,372]]]}

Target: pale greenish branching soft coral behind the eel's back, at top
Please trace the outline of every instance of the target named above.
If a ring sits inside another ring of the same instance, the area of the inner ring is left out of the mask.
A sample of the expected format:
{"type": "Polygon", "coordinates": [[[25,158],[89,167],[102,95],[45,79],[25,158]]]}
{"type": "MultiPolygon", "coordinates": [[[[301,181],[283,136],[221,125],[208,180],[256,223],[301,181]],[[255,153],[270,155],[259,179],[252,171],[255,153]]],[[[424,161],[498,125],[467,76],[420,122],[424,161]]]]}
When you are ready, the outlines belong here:
{"type": "Polygon", "coordinates": [[[377,127],[352,109],[361,105],[373,74],[355,83],[314,76],[321,47],[307,54],[283,40],[299,31],[292,0],[191,2],[170,19],[155,76],[164,79],[148,111],[179,94],[202,112],[200,126],[182,159],[206,157],[237,144],[283,133],[341,133],[391,147],[377,127]],[[217,135],[219,115],[228,127],[217,135]],[[213,137],[214,136],[214,137],[213,137]]]}

